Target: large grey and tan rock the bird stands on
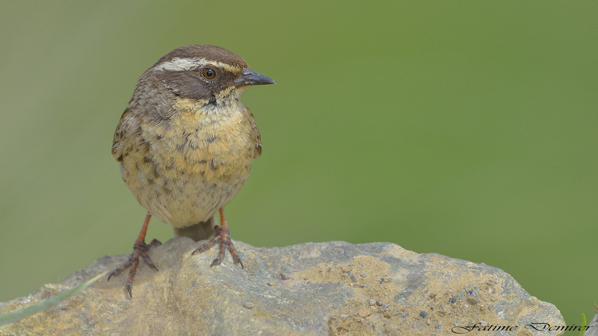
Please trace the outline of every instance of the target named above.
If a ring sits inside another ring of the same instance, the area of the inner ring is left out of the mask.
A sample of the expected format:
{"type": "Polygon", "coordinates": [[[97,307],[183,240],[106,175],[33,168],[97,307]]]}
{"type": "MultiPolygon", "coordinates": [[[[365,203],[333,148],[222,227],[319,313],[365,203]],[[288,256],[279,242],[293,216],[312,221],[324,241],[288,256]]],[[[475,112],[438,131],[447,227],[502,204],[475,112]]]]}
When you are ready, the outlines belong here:
{"type": "MultiPolygon", "coordinates": [[[[529,332],[529,323],[565,325],[556,307],[498,268],[391,243],[235,242],[245,269],[228,253],[209,267],[216,249],[191,255],[197,246],[179,237],[152,249],[160,271],[140,264],[132,300],[126,274],[100,279],[53,308],[0,326],[0,335],[451,335],[451,328],[480,321],[486,328],[517,326],[502,333],[515,335],[529,332]]],[[[0,314],[47,300],[127,258],[103,256],[56,285],[1,303],[0,314]]]]}

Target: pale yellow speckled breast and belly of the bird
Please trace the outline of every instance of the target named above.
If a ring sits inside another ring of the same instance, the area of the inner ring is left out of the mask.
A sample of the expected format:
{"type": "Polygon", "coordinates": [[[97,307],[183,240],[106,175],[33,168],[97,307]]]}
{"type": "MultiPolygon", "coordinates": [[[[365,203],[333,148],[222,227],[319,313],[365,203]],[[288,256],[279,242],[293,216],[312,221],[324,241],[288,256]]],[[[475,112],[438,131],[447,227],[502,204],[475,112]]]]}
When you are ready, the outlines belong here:
{"type": "Polygon", "coordinates": [[[176,108],[168,124],[141,121],[138,150],[122,166],[142,206],[184,227],[210,218],[245,185],[260,134],[238,100],[205,111],[196,101],[179,99],[176,108]]]}

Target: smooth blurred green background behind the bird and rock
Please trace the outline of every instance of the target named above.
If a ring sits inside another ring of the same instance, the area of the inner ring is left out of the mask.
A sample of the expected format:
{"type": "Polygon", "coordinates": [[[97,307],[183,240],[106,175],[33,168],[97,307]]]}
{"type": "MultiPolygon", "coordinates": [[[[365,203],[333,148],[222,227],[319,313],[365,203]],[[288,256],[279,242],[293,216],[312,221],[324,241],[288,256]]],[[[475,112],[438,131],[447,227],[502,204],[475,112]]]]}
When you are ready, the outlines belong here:
{"type": "MultiPolygon", "coordinates": [[[[130,253],[112,135],[137,78],[216,44],[263,154],[254,246],[393,242],[484,262],[569,324],[598,301],[598,2],[0,2],[0,301],[130,253]]],[[[148,239],[168,240],[152,219],[148,239]]],[[[159,266],[159,265],[158,265],[159,266]]],[[[147,268],[145,268],[147,270],[147,268]]]]}

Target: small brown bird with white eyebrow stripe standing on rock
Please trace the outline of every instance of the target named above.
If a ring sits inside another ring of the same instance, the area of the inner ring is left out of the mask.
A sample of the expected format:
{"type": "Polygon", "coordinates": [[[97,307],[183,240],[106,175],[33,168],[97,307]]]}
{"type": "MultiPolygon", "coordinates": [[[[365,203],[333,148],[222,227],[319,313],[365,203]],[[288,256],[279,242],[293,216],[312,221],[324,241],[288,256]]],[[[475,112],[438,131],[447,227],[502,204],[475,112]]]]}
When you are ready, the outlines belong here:
{"type": "Polygon", "coordinates": [[[154,215],[175,228],[175,235],[197,236],[187,227],[212,222],[220,211],[221,226],[195,252],[220,244],[243,264],[230,240],[223,207],[243,188],[254,158],[261,154],[254,116],[239,98],[249,85],[276,84],[249,69],[242,57],[215,45],[185,45],[162,56],[139,77],[112,142],[123,181],[148,210],[129,261],[132,284],[139,257],[158,268],[147,252],[160,242],[145,243],[154,215]]]}

